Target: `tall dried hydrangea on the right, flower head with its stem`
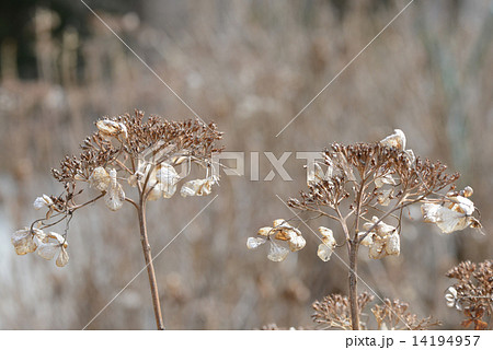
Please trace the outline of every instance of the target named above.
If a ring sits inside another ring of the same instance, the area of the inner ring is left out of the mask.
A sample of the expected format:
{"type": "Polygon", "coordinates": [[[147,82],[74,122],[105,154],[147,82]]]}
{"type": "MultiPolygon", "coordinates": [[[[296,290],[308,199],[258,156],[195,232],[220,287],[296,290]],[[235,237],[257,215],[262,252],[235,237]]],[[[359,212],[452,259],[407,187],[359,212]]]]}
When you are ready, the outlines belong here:
{"type": "MultiPolygon", "coordinates": [[[[328,261],[336,247],[346,246],[349,259],[348,301],[352,328],[359,329],[357,302],[357,255],[360,245],[368,247],[371,259],[400,254],[400,235],[404,208],[421,203],[425,222],[435,223],[444,233],[480,228],[472,217],[475,208],[468,198],[472,188],[456,190],[459,174],[447,174],[440,162],[415,158],[405,149],[402,130],[375,143],[344,145],[333,143],[323,151],[323,162],[308,168],[308,190],[287,205],[300,213],[312,213],[312,219],[326,218],[337,222],[343,237],[335,240],[331,229],[320,226],[322,243],[318,256],[328,261]],[[442,194],[446,187],[448,192],[442,194]],[[391,220],[393,224],[389,224],[391,220]],[[386,221],[386,222],[385,222],[386,221]],[[341,242],[342,241],[342,242],[341,242]]],[[[257,248],[270,242],[268,259],[282,261],[289,252],[305,247],[301,232],[278,219],[273,226],[262,228],[256,237],[246,242],[257,248]],[[288,243],[289,247],[283,244],[288,243]]]]}

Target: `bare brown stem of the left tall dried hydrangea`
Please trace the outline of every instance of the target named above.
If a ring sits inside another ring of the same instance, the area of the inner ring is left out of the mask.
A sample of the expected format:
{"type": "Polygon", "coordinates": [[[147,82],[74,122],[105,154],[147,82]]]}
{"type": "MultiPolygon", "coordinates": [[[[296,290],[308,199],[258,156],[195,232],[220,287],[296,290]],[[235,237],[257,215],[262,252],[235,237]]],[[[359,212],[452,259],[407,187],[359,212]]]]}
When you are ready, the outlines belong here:
{"type": "Polygon", "coordinates": [[[152,306],[154,308],[156,325],[159,330],[164,330],[164,323],[162,320],[161,305],[159,302],[159,291],[158,282],[156,280],[154,266],[152,264],[152,255],[149,244],[149,238],[147,236],[147,224],[146,224],[146,202],[140,196],[139,206],[137,207],[137,212],[139,215],[139,229],[140,229],[140,242],[142,243],[144,258],[146,259],[147,275],[149,277],[149,285],[152,296],[152,306]]]}

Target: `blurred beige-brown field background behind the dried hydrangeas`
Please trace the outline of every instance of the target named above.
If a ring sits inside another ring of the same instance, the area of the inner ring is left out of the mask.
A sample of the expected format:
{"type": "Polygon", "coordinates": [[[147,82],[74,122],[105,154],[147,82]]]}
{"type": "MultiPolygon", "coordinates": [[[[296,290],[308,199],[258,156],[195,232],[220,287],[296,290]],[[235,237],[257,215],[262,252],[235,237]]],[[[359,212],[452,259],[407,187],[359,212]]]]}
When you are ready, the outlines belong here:
{"type": "MultiPolygon", "coordinates": [[[[277,138],[408,1],[87,3],[202,118],[219,125],[228,151],[261,152],[261,179],[271,170],[264,151],[279,158],[333,141],[377,141],[394,128],[416,154],[460,172],[458,186],[474,188],[485,235],[443,235],[406,218],[400,257],[368,261],[364,249],[359,264],[379,296],[460,328],[461,315],[445,305],[452,281],[444,275],[461,260],[492,258],[493,248],[491,0],[414,1],[277,138]]],[[[61,191],[50,167],[78,153],[98,118],[135,108],[177,120],[194,115],[76,0],[3,1],[0,73],[0,328],[81,329],[144,267],[133,209],[110,212],[98,202],[78,211],[61,269],[35,254],[18,257],[11,233],[37,218],[37,196],[61,191]]],[[[267,260],[267,247],[245,246],[259,228],[291,217],[276,195],[287,199],[306,187],[305,162],[286,162],[293,182],[252,182],[248,159],[245,176],[222,174],[219,197],[154,260],[168,328],[313,327],[311,303],[346,293],[343,264],[322,262],[318,240],[302,226],[307,247],[282,264],[267,260]]],[[[153,253],[210,199],[151,202],[153,253]]],[[[153,329],[146,275],[88,328],[153,329]]]]}

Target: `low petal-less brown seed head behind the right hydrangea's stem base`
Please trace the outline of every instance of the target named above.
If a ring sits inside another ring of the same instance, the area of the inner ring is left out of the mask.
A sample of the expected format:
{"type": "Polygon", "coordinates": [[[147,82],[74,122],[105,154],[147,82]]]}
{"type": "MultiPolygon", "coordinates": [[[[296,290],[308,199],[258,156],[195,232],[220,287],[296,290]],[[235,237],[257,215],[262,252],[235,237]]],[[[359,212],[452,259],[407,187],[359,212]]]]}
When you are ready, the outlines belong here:
{"type": "MultiPolygon", "coordinates": [[[[365,307],[374,300],[374,296],[364,292],[358,296],[358,312],[363,316],[365,307]]],[[[347,296],[331,294],[321,302],[316,301],[312,304],[314,314],[311,316],[313,322],[324,328],[352,329],[351,306],[347,296]]],[[[379,330],[410,329],[422,330],[437,326],[440,323],[433,320],[432,317],[419,318],[416,315],[408,312],[409,305],[399,300],[391,302],[385,299],[381,305],[375,305],[371,313],[377,322],[379,330]]],[[[367,324],[359,317],[359,329],[368,329],[367,324]]]]}

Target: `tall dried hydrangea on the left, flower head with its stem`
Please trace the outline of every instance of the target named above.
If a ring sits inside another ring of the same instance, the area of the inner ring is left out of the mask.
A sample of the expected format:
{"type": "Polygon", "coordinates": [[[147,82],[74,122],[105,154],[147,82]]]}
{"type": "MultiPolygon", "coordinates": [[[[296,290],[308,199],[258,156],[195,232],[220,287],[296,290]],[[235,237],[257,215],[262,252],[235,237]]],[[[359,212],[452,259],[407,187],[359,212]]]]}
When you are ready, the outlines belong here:
{"type": "Polygon", "coordinates": [[[211,186],[218,182],[211,173],[211,156],[221,151],[216,142],[222,133],[214,122],[168,121],[158,116],[145,118],[140,110],[134,115],[105,117],[95,126],[98,131],[81,144],[82,152],[78,156],[66,156],[59,170],[51,170],[53,176],[64,185],[62,194],[37,197],[34,207],[45,209],[46,214],[31,226],[16,231],[12,244],[19,255],[37,252],[43,258],[53,259],[58,254],[56,265],[62,267],[69,260],[68,226],[77,210],[101,199],[112,211],[121,209],[125,202],[131,205],[139,221],[157,327],[164,329],[147,233],[146,205],[149,200],[171,198],[182,178],[190,175],[193,163],[205,170],[205,178],[183,184],[181,195],[209,195],[211,186]],[[183,174],[175,170],[180,164],[185,168],[183,174]],[[125,183],[129,189],[124,190],[125,183]],[[131,191],[134,198],[128,196],[131,191]],[[62,234],[45,232],[64,222],[62,234]]]}

